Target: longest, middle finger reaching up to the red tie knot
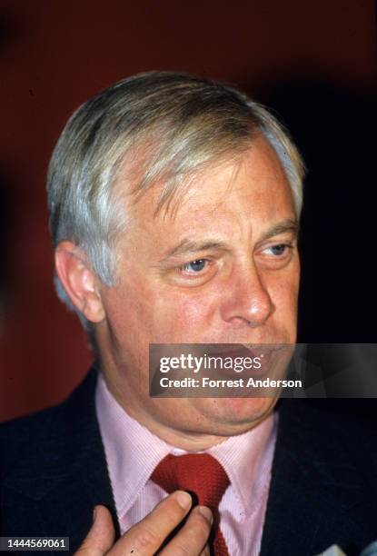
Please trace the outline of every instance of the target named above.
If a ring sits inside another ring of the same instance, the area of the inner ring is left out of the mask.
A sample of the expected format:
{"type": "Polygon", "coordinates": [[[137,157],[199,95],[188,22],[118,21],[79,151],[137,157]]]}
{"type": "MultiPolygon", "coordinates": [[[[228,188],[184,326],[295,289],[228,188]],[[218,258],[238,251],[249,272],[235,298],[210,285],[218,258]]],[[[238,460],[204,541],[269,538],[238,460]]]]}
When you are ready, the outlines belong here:
{"type": "Polygon", "coordinates": [[[161,501],[143,521],[136,523],[114,544],[112,556],[151,556],[174,531],[190,510],[192,499],[184,491],[175,491],[161,501]]]}

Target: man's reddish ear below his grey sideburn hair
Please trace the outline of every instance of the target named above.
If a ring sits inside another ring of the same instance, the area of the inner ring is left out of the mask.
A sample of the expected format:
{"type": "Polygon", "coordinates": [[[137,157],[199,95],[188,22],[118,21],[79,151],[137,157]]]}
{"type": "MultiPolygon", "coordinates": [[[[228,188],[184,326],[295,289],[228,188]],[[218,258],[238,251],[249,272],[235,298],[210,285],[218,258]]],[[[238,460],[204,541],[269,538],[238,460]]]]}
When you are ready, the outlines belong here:
{"type": "Polygon", "coordinates": [[[71,242],[59,243],[55,269],[74,307],[91,323],[101,323],[105,316],[101,282],[80,248],[71,242]]]}

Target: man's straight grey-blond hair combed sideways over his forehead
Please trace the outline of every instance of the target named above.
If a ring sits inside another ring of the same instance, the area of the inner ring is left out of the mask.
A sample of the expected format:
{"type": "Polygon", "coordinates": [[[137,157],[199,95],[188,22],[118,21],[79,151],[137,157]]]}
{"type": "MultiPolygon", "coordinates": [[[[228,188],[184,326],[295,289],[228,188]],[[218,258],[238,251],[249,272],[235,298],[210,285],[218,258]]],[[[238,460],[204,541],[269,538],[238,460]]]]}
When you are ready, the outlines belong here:
{"type": "MultiPolygon", "coordinates": [[[[100,280],[114,285],[116,243],[127,224],[114,194],[119,171],[134,168],[128,193],[135,199],[163,184],[159,210],[189,175],[221,156],[241,154],[261,133],[283,164],[299,216],[303,160],[263,105],[193,74],[148,72],[111,85],[74,112],[55,146],[47,178],[54,247],[64,240],[80,246],[100,280]]],[[[57,276],[55,285],[74,310],[57,276]]]]}

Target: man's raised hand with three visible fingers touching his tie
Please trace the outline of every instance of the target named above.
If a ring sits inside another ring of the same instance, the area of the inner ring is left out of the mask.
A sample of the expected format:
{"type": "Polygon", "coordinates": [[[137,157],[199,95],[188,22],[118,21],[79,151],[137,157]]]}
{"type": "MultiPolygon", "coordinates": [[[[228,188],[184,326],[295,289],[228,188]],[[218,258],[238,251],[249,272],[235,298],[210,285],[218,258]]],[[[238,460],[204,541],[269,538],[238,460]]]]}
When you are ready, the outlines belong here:
{"type": "MultiPolygon", "coordinates": [[[[152,556],[184,519],[191,506],[192,499],[187,492],[175,491],[115,543],[110,511],[104,506],[96,506],[93,526],[75,556],[152,556]]],[[[184,527],[159,554],[210,556],[206,542],[212,522],[211,510],[205,506],[197,506],[190,513],[184,527]]]]}

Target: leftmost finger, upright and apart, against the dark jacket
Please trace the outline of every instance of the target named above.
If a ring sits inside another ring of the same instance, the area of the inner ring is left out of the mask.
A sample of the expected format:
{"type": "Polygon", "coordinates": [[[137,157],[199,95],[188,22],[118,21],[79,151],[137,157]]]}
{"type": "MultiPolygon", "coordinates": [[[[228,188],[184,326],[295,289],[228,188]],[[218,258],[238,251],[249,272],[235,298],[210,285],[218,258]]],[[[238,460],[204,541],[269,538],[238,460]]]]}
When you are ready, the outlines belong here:
{"type": "Polygon", "coordinates": [[[95,506],[94,522],[75,556],[102,556],[114,544],[114,524],[110,511],[104,506],[95,506]]]}

